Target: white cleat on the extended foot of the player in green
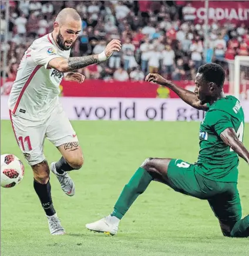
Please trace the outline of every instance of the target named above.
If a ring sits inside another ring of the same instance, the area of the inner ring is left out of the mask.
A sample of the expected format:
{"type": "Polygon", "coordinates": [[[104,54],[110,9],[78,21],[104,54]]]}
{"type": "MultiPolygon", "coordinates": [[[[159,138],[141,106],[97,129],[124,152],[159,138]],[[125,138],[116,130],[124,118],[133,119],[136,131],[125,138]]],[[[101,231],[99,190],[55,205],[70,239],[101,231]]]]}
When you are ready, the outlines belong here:
{"type": "Polygon", "coordinates": [[[106,235],[116,235],[119,229],[119,219],[115,216],[107,216],[99,221],[86,224],[90,231],[104,233],[106,235]]]}

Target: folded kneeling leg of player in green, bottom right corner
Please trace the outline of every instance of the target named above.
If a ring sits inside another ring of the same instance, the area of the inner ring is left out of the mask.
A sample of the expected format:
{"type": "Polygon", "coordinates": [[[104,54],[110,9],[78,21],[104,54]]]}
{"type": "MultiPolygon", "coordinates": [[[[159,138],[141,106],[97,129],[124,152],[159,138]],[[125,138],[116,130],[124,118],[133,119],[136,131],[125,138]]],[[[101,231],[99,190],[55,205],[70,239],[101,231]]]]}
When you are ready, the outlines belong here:
{"type": "Polygon", "coordinates": [[[223,194],[208,200],[226,237],[249,237],[249,215],[241,219],[240,195],[235,182],[224,183],[223,194]]]}

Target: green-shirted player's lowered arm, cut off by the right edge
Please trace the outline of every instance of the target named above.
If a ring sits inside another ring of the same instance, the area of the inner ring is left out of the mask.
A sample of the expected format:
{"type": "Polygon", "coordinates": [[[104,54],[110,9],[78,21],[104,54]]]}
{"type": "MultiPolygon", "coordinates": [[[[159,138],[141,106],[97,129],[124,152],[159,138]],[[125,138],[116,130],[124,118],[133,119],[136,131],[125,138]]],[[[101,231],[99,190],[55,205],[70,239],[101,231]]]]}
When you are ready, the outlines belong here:
{"type": "Polygon", "coordinates": [[[233,128],[224,129],[220,134],[220,138],[249,164],[249,152],[237,137],[233,128]]]}

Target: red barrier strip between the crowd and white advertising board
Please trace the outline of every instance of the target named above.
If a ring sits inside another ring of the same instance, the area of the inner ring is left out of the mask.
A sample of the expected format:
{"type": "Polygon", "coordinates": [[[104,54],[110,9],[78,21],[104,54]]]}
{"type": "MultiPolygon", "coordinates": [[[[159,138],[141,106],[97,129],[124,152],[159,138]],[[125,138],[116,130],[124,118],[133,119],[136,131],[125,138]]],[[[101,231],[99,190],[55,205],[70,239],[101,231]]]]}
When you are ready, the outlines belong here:
{"type": "MultiPolygon", "coordinates": [[[[193,81],[174,81],[176,85],[194,91],[193,81]]],[[[2,85],[1,95],[8,95],[11,91],[13,80],[7,79],[2,85]]],[[[85,80],[78,82],[62,81],[60,85],[62,95],[66,97],[104,97],[104,98],[178,98],[166,87],[160,87],[149,82],[119,82],[103,80],[85,80]]],[[[224,84],[224,92],[228,93],[228,84],[224,84]]],[[[241,87],[242,89],[242,87],[241,87]]]]}

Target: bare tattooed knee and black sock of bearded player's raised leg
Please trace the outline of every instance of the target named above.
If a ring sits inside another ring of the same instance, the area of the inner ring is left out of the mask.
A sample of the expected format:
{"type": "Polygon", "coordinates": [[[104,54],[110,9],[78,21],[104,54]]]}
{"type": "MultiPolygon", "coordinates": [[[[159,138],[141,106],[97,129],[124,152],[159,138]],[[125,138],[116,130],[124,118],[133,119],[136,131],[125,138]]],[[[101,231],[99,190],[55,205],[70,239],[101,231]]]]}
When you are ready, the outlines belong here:
{"type": "Polygon", "coordinates": [[[82,150],[79,142],[69,142],[58,147],[62,158],[55,164],[56,172],[63,174],[64,171],[80,169],[83,165],[82,150]]]}

